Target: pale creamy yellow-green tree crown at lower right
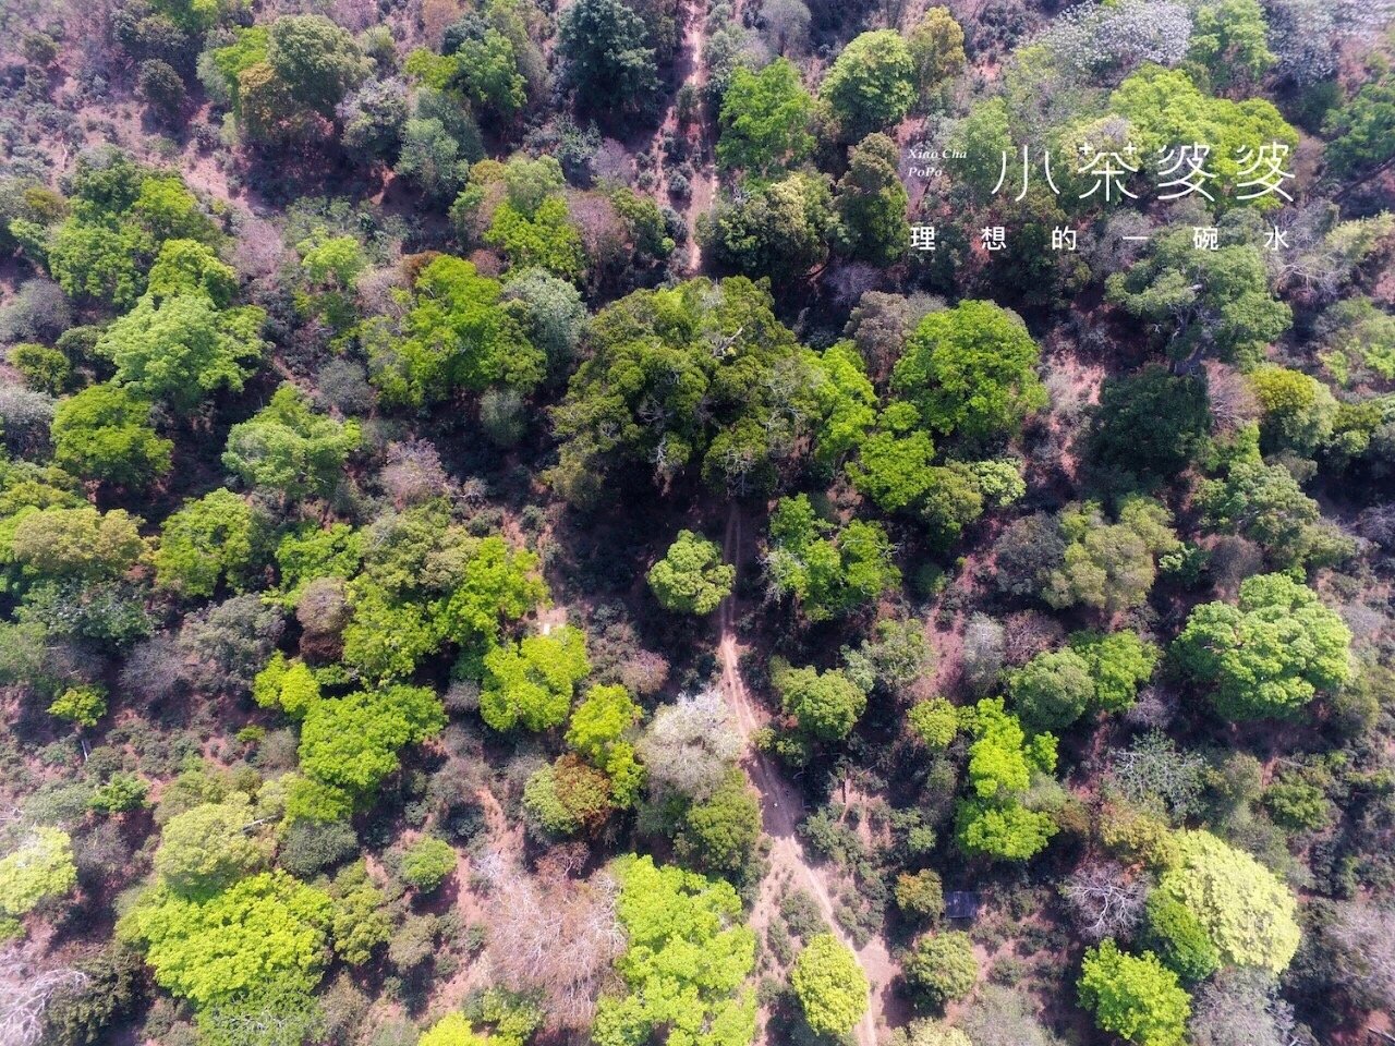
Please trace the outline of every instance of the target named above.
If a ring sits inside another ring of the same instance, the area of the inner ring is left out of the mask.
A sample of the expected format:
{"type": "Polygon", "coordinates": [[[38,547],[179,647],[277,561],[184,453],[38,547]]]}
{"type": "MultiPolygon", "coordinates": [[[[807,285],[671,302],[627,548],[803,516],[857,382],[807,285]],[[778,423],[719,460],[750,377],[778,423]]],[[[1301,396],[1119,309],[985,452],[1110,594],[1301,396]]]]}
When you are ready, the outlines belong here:
{"type": "Polygon", "coordinates": [[[1278,975],[1299,947],[1297,902],[1274,873],[1207,831],[1182,833],[1158,894],[1201,923],[1221,962],[1278,975]]]}

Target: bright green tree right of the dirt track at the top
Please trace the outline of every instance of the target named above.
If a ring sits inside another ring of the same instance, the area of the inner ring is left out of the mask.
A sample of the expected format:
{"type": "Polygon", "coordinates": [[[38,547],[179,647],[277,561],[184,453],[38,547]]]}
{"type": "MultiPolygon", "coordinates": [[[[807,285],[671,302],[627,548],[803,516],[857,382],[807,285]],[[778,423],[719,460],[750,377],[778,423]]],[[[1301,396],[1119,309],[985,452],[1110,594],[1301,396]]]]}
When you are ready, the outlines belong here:
{"type": "Polygon", "coordinates": [[[755,176],[801,163],[813,149],[813,98],[788,59],[760,71],[738,66],[721,99],[717,162],[755,176]]]}

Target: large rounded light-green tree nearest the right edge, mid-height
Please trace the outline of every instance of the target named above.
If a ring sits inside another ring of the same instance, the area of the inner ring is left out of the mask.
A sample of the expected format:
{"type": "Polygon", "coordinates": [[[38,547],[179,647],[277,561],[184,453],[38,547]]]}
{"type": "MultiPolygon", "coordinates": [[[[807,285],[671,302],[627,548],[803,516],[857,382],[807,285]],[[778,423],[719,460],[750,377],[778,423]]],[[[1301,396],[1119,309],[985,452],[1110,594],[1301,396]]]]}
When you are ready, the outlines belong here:
{"type": "Polygon", "coordinates": [[[1197,607],[1172,646],[1228,720],[1292,718],[1350,676],[1350,629],[1286,575],[1240,584],[1239,604],[1197,607]]]}

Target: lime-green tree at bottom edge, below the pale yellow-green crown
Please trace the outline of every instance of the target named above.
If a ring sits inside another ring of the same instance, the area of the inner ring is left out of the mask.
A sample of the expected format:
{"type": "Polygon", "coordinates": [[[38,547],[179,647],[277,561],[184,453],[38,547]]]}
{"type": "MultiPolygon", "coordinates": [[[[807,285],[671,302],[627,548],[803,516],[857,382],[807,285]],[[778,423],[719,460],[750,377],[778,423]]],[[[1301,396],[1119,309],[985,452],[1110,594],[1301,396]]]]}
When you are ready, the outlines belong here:
{"type": "Polygon", "coordinates": [[[1103,1031],[1138,1046],[1182,1043],[1191,1000],[1151,951],[1126,955],[1105,940],[1085,953],[1078,987],[1080,1004],[1103,1031]]]}

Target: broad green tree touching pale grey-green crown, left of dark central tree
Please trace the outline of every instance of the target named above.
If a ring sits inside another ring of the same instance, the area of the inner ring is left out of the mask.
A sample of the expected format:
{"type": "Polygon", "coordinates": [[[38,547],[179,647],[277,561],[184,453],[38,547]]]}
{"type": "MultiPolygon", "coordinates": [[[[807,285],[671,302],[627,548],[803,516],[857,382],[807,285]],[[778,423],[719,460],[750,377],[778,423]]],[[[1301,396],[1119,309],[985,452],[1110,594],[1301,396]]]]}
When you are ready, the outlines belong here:
{"type": "Polygon", "coordinates": [[[372,379],[384,397],[423,406],[448,399],[456,388],[527,392],[537,385],[547,360],[513,314],[499,308],[501,293],[498,280],[462,258],[439,257],[421,269],[402,339],[370,346],[372,379]]]}

